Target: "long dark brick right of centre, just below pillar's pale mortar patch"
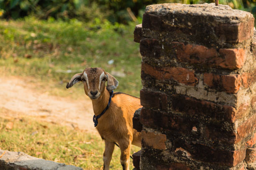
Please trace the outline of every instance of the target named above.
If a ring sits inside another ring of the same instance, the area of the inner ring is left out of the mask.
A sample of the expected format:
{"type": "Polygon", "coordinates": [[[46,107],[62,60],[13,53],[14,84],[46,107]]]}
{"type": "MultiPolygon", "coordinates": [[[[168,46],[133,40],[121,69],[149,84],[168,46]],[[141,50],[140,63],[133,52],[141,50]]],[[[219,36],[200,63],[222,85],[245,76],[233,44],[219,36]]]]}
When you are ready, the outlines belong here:
{"type": "Polygon", "coordinates": [[[172,95],[171,100],[172,108],[177,112],[228,122],[234,122],[236,120],[236,109],[229,105],[197,100],[184,95],[172,95]]]}

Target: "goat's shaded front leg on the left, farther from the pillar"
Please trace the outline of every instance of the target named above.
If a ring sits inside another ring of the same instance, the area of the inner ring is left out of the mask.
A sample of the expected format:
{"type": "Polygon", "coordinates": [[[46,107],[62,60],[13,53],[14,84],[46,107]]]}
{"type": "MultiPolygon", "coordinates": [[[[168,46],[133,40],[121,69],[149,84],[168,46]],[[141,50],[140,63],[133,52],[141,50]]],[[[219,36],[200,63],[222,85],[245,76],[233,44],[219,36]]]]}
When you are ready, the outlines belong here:
{"type": "Polygon", "coordinates": [[[115,144],[113,142],[105,141],[105,151],[103,154],[103,170],[109,170],[110,161],[112,158],[112,154],[115,148],[115,144]]]}

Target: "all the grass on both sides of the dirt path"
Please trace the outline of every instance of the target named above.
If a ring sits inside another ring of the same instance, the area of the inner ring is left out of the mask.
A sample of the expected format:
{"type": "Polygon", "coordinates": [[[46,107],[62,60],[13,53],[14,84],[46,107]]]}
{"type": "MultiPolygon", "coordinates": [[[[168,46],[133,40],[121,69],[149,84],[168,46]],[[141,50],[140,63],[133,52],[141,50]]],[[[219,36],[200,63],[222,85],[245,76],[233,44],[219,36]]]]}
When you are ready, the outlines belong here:
{"type": "MultiPolygon", "coordinates": [[[[138,97],[142,87],[141,56],[138,43],[133,42],[134,26],[111,25],[97,18],[90,23],[33,17],[8,22],[0,20],[1,76],[34,77],[31,80],[36,81],[35,88],[39,90],[79,98],[84,97],[82,83],[66,90],[66,82],[85,67],[102,67],[118,79],[116,91],[138,97]],[[108,63],[110,60],[114,62],[108,63]]],[[[36,118],[11,120],[14,127],[8,130],[5,126],[9,121],[0,118],[2,150],[20,151],[84,170],[103,168],[104,143],[99,135],[40,122],[36,118]]],[[[121,169],[117,147],[111,169],[121,169]]]]}

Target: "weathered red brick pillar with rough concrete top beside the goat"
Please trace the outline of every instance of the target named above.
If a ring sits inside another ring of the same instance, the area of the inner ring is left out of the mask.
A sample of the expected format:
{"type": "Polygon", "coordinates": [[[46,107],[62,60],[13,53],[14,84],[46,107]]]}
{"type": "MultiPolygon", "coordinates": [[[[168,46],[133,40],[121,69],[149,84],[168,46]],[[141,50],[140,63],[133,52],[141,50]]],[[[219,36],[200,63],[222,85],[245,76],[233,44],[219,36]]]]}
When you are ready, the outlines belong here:
{"type": "Polygon", "coordinates": [[[227,5],[146,7],[134,31],[141,170],[243,170],[256,160],[253,25],[251,13],[227,5]]]}

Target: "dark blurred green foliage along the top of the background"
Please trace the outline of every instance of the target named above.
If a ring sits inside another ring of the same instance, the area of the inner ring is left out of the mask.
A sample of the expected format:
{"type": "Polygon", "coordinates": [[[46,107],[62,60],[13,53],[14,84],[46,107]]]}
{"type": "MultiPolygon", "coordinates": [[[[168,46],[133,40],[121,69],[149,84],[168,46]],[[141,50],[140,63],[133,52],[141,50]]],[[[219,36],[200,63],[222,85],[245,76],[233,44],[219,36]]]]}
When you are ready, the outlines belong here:
{"type": "MultiPolygon", "coordinates": [[[[214,0],[0,0],[0,16],[17,19],[30,14],[39,19],[49,17],[64,20],[77,18],[88,22],[94,18],[108,19],[111,23],[131,21],[130,8],[141,18],[146,5],[156,3],[211,3],[214,0]]],[[[219,0],[220,4],[256,14],[256,0],[219,0]]]]}

